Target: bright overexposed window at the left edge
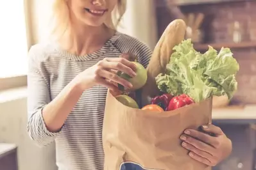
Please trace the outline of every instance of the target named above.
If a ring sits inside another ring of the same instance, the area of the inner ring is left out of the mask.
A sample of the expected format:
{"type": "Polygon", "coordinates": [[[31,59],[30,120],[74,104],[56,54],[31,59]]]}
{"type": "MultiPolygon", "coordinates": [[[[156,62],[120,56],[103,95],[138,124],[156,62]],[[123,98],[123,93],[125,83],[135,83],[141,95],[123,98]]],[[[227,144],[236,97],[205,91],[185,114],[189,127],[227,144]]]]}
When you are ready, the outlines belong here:
{"type": "Polygon", "coordinates": [[[26,75],[28,55],[24,1],[3,1],[1,6],[0,90],[26,75]]]}

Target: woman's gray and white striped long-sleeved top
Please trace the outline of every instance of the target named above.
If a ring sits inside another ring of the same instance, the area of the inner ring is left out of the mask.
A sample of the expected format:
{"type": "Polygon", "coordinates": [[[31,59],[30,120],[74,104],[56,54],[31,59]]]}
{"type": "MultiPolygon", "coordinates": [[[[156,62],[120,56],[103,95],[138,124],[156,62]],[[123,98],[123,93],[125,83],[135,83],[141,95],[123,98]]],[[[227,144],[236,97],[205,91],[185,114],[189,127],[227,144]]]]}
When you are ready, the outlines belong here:
{"type": "MultiPolygon", "coordinates": [[[[53,43],[33,45],[29,52],[28,134],[40,146],[55,141],[59,170],[103,170],[101,139],[107,88],[94,86],[83,92],[58,133],[47,130],[42,108],[80,72],[103,58],[132,52],[144,67],[152,54],[144,43],[116,32],[93,54],[76,56],[53,43]]],[[[115,170],[115,169],[113,169],[115,170]]]]}

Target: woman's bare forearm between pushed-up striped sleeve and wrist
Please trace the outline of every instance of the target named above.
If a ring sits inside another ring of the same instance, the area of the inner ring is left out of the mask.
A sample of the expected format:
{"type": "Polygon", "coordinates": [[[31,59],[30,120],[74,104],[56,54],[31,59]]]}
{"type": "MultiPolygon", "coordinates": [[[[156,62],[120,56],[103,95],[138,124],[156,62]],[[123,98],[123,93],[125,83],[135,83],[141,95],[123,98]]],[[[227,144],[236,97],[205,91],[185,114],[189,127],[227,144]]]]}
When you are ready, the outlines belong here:
{"type": "Polygon", "coordinates": [[[62,128],[67,116],[73,110],[82,93],[83,90],[73,80],[62,89],[54,100],[44,107],[42,116],[47,130],[58,132],[62,128]]]}

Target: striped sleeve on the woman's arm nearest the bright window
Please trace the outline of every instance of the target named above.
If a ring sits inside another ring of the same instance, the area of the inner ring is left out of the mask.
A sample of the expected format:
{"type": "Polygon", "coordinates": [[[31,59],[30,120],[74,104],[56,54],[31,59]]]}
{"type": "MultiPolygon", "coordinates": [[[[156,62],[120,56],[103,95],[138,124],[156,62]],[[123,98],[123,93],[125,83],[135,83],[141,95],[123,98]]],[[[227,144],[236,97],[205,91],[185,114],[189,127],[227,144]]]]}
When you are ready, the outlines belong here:
{"type": "MultiPolygon", "coordinates": [[[[46,146],[55,140],[59,133],[49,132],[42,117],[43,107],[50,102],[49,83],[43,76],[42,55],[44,53],[31,47],[28,54],[28,134],[39,146],[46,146]]],[[[46,74],[46,72],[45,72],[46,74]]]]}

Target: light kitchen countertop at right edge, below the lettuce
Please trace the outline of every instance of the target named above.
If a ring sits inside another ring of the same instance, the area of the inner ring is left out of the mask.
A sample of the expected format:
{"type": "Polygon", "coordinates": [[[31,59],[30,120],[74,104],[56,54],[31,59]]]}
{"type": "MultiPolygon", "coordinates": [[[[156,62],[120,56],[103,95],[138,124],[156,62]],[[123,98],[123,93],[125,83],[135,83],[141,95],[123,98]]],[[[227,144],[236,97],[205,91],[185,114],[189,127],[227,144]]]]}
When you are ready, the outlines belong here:
{"type": "Polygon", "coordinates": [[[212,121],[256,124],[256,105],[232,105],[212,109],[212,121]]]}

